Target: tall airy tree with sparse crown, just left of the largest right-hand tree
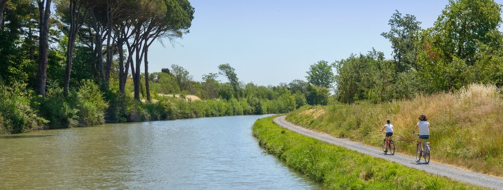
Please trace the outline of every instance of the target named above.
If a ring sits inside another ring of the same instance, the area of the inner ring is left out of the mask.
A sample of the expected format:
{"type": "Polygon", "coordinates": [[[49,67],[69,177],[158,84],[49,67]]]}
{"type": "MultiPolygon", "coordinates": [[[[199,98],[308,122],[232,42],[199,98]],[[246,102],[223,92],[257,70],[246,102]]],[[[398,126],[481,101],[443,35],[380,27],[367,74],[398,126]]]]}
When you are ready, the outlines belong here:
{"type": "Polygon", "coordinates": [[[416,16],[406,14],[402,16],[400,12],[395,10],[389,25],[389,32],[383,32],[381,36],[389,39],[393,48],[393,59],[396,61],[396,72],[408,71],[410,68],[416,67],[417,53],[415,43],[418,40],[418,35],[421,30],[419,26],[421,22],[416,20],[416,16]]]}

